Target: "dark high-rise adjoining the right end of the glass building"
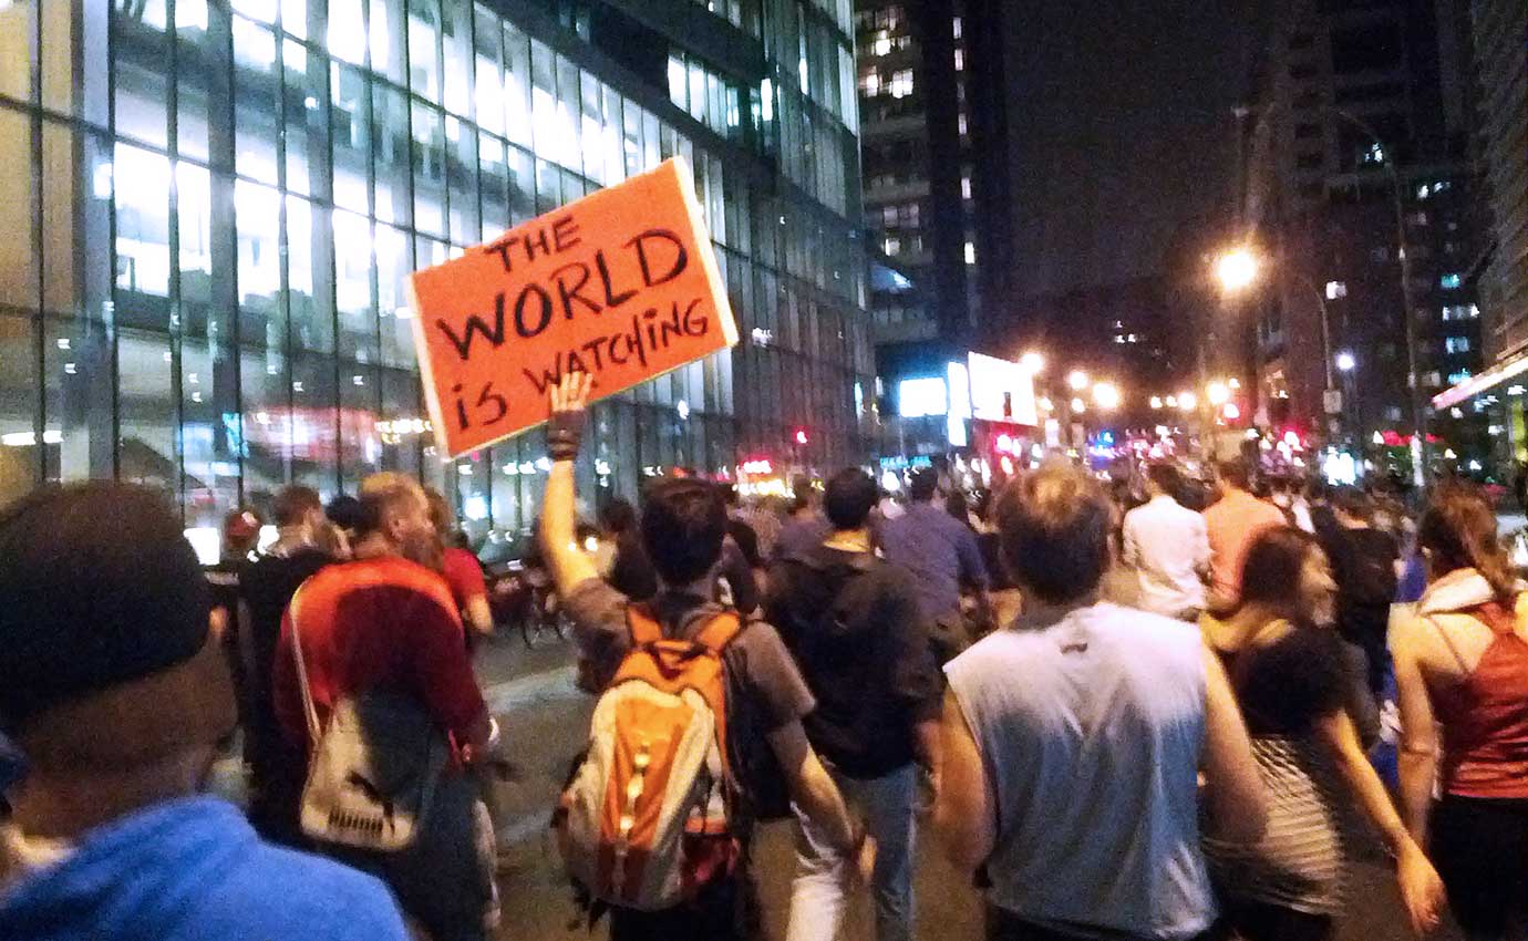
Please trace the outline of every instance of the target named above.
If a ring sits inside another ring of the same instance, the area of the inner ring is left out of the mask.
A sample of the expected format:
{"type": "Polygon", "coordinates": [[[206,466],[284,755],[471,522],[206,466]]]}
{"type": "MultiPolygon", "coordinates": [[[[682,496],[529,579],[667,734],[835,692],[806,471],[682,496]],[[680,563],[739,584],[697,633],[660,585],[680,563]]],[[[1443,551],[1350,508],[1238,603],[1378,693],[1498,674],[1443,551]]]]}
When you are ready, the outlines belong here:
{"type": "Polygon", "coordinates": [[[1007,84],[998,0],[856,0],[876,344],[969,344],[1008,298],[1007,84]]]}

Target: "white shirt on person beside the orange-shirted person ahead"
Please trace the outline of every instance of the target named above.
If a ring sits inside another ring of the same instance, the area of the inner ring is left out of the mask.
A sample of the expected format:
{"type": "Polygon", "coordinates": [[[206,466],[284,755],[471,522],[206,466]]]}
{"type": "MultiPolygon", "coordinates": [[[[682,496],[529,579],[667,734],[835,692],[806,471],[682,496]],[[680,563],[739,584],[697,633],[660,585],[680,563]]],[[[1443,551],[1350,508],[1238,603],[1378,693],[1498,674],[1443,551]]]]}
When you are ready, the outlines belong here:
{"type": "Polygon", "coordinates": [[[1210,539],[1204,516],[1167,495],[1154,496],[1125,515],[1125,564],[1140,579],[1140,606],[1177,617],[1204,610],[1210,539]]]}

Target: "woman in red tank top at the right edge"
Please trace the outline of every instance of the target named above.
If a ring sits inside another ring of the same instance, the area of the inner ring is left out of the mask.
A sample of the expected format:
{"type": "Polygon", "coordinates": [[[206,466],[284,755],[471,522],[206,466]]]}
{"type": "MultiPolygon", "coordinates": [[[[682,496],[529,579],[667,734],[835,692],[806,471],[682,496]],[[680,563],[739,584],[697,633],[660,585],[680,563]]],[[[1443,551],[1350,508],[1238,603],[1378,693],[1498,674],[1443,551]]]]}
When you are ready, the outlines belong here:
{"type": "Polygon", "coordinates": [[[1390,626],[1406,823],[1470,938],[1525,938],[1528,597],[1473,487],[1439,492],[1416,542],[1427,590],[1390,626]]]}

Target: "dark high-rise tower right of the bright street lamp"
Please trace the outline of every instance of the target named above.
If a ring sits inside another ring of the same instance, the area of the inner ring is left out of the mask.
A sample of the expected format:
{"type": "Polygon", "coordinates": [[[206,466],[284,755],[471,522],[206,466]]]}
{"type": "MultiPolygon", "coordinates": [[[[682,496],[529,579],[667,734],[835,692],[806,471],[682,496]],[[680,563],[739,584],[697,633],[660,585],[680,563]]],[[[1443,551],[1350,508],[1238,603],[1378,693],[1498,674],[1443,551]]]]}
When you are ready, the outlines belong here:
{"type": "MultiPolygon", "coordinates": [[[[1470,61],[1458,0],[1285,5],[1247,119],[1247,220],[1271,260],[1254,318],[1270,422],[1369,448],[1413,428],[1409,344],[1426,396],[1481,370],[1470,61]]],[[[1482,457],[1476,425],[1433,425],[1461,467],[1482,457]]]]}

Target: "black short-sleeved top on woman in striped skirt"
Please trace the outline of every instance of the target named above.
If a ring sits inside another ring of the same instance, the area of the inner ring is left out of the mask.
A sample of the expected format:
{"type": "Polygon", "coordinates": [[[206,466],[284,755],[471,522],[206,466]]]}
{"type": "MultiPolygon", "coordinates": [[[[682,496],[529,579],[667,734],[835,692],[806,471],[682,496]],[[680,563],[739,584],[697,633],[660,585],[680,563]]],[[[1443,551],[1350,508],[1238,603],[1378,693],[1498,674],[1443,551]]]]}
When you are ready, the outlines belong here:
{"type": "Polygon", "coordinates": [[[1273,643],[1222,657],[1253,735],[1309,735],[1317,719],[1348,704],[1352,678],[1332,631],[1293,628],[1273,643]]]}

